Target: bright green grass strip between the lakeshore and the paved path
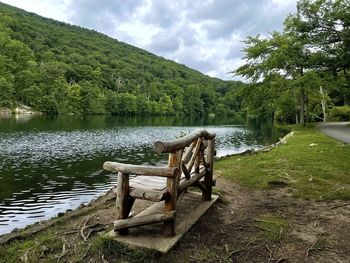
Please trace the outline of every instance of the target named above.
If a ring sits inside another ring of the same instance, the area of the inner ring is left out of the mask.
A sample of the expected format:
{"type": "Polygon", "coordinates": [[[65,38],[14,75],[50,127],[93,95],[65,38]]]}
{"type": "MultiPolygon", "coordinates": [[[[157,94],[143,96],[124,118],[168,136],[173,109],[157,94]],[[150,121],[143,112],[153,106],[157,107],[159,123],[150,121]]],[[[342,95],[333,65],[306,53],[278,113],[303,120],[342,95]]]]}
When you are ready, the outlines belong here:
{"type": "Polygon", "coordinates": [[[292,129],[286,144],[270,152],[219,160],[215,169],[246,187],[270,189],[280,183],[295,197],[350,200],[350,145],[315,127],[292,129]]]}

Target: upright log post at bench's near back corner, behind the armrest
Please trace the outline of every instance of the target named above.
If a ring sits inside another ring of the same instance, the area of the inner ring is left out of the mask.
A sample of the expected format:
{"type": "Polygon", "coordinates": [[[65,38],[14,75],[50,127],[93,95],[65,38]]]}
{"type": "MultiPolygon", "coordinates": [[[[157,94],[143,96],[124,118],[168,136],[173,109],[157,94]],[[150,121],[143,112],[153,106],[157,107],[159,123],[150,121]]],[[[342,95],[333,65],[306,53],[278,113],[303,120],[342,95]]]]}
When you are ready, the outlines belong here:
{"type": "MultiPolygon", "coordinates": [[[[169,167],[179,167],[180,162],[181,162],[180,152],[169,154],[169,161],[168,161],[169,167]]],[[[179,171],[179,169],[177,171],[179,171]]],[[[164,206],[165,212],[170,212],[176,209],[177,184],[180,180],[180,178],[177,178],[177,177],[180,177],[180,174],[176,175],[175,177],[168,177],[167,179],[166,188],[170,194],[170,197],[168,198],[168,200],[165,200],[165,206],[164,206]]],[[[164,222],[163,234],[165,236],[175,235],[174,220],[170,220],[170,221],[168,220],[164,222]]]]}

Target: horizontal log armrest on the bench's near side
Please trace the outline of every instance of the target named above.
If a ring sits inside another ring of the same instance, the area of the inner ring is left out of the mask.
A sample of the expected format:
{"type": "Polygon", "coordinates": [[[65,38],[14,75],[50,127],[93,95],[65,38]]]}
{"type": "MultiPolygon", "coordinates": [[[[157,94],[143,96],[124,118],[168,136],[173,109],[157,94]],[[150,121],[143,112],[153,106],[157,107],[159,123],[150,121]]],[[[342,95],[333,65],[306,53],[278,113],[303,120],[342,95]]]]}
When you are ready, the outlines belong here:
{"type": "Polygon", "coordinates": [[[133,175],[174,177],[177,174],[176,167],[153,167],[124,164],[118,162],[105,162],[103,169],[109,172],[122,172],[133,175]]]}

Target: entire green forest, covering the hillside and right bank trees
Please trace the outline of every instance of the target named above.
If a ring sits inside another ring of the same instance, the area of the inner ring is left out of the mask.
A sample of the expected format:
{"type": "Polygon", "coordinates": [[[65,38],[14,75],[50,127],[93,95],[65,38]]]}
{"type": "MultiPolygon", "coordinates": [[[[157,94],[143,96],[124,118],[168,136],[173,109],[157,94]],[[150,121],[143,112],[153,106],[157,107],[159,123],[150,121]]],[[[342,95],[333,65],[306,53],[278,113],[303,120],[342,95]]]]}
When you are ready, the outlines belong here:
{"type": "Polygon", "coordinates": [[[249,36],[242,81],[211,78],[93,30],[0,3],[0,107],[45,114],[350,119],[350,1],[300,0],[249,36]]]}

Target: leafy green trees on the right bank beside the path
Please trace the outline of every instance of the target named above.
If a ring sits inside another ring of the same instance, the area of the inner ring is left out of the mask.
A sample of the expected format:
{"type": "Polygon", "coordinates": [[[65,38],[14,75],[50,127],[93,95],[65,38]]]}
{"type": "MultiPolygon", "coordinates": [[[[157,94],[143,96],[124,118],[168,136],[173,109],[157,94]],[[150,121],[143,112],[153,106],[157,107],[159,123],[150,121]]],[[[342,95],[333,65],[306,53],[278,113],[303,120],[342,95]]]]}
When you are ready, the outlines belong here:
{"type": "Polygon", "coordinates": [[[248,37],[246,64],[234,71],[253,81],[254,92],[243,91],[242,109],[304,125],[323,118],[321,100],[327,108],[348,105],[349,17],[349,1],[300,0],[282,32],[248,37]]]}

